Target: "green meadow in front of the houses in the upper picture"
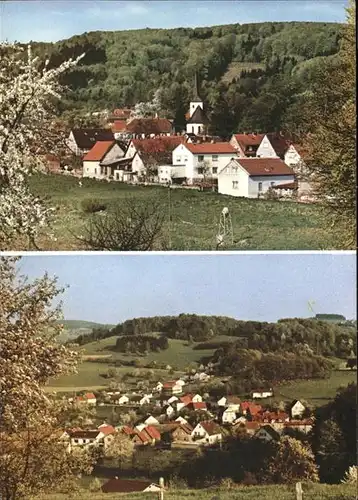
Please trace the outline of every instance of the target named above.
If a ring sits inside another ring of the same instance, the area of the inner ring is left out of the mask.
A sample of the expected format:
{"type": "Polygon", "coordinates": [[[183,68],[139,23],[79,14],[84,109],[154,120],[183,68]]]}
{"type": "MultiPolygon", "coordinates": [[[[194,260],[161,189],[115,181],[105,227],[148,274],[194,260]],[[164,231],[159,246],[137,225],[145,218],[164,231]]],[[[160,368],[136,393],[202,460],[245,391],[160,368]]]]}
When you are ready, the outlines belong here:
{"type": "MultiPolygon", "coordinates": [[[[76,236],[83,234],[83,226],[90,217],[81,203],[97,199],[107,207],[120,204],[132,196],[136,199],[155,197],[163,201],[167,210],[168,190],[159,186],[131,186],[107,183],[63,175],[36,175],[31,178],[32,190],[56,207],[52,236],[42,235],[38,245],[42,250],[83,249],[76,236]]],[[[215,250],[216,233],[223,207],[232,215],[234,245],[228,250],[321,250],[335,246],[333,235],[320,220],[320,208],[294,202],[275,202],[232,198],[212,192],[171,190],[171,245],[166,223],[163,243],[171,250],[215,250]]],[[[13,245],[14,246],[14,245],[13,245]]],[[[17,242],[12,250],[27,249],[17,242]]],[[[160,248],[158,248],[160,249],[160,248]]]]}

